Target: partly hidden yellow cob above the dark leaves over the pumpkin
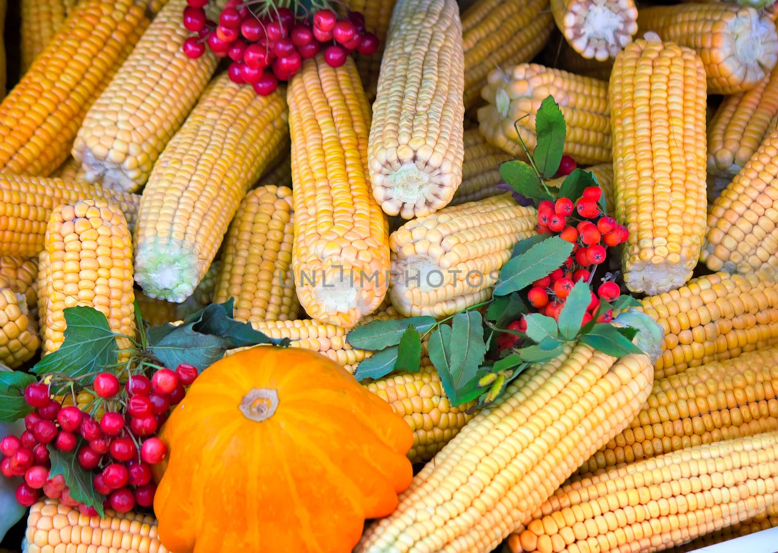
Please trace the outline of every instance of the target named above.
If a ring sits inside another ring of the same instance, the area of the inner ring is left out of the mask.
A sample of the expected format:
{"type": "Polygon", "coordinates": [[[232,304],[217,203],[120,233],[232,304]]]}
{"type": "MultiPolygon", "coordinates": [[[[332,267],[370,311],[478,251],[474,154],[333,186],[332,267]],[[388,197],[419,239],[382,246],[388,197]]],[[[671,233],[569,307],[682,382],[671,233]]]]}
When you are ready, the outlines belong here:
{"type": "Polygon", "coordinates": [[[214,302],[235,298],[233,318],[286,321],[300,304],[292,281],[292,190],[251,190],[230,224],[214,302]]]}

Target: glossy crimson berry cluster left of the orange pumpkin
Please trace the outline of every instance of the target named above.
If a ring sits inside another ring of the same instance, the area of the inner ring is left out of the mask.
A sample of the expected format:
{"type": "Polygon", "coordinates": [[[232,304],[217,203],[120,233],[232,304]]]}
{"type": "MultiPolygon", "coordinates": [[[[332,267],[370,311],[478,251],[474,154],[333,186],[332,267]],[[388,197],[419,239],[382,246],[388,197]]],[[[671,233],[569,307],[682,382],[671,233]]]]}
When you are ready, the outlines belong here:
{"type": "Polygon", "coordinates": [[[149,507],[154,502],[156,485],[151,482],[151,466],[166,457],[167,447],[153,436],[167,419],[171,405],[177,405],[198,375],[195,367],[181,363],[175,371],[159,369],[149,380],[135,374],[124,383],[114,374],[100,373],[94,378],[95,394],[110,405],[121,405],[121,412],[108,411],[100,420],[93,419],[75,405],[63,407],[50,397],[47,384],[36,382],[24,391],[25,402],[34,407],[24,418],[26,430],[21,436],[0,440],[0,472],[6,478],[23,477],[16,488],[16,500],[31,506],[42,491],[66,506],[78,507],[82,514],[96,516],[91,506],[72,498],[62,475],[51,475],[49,447],[76,452],[79,466],[93,471],[96,492],[106,496],[103,506],[126,513],[135,505],[149,507]]]}

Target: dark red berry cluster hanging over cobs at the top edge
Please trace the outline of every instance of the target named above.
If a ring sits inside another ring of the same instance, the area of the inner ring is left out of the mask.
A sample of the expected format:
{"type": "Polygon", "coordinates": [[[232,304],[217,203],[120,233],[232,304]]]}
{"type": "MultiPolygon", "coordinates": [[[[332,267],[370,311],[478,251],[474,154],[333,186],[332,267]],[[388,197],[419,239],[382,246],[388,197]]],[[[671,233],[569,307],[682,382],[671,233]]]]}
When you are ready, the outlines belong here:
{"type": "Polygon", "coordinates": [[[233,82],[247,82],[261,96],[278,88],[300,71],[303,60],[324,49],[324,60],[334,68],[345,64],[354,51],[369,56],[378,49],[378,37],[367,33],[360,12],[349,12],[338,19],[331,9],[314,13],[313,22],[298,19],[289,8],[278,8],[258,17],[250,2],[230,0],[219,16],[219,23],[205,15],[208,0],[187,0],[184,27],[194,37],[184,41],[184,53],[200,57],[205,45],[218,57],[230,57],[229,75],[233,82]]]}

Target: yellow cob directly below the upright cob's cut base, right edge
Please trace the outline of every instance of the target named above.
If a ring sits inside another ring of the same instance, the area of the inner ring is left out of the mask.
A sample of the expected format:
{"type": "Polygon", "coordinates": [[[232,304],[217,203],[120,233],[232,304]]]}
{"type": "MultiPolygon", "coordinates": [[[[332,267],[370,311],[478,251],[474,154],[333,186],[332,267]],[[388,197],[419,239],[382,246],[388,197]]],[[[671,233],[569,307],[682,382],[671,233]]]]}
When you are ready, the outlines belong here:
{"type": "Polygon", "coordinates": [[[657,378],[778,343],[778,283],[717,273],[644,297],[640,308],[664,330],[657,378]]]}

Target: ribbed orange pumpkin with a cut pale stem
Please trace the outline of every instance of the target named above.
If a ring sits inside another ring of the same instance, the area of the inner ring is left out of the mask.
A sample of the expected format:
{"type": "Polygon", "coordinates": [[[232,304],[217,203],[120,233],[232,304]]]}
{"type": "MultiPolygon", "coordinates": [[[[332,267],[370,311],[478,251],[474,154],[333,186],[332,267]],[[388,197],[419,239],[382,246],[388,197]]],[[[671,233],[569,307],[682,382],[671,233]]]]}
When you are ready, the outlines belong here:
{"type": "Polygon", "coordinates": [[[408,423],[308,350],[214,363],[159,437],[154,512],[175,553],[348,553],[412,480],[408,423]]]}

